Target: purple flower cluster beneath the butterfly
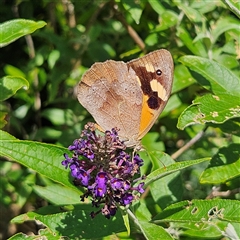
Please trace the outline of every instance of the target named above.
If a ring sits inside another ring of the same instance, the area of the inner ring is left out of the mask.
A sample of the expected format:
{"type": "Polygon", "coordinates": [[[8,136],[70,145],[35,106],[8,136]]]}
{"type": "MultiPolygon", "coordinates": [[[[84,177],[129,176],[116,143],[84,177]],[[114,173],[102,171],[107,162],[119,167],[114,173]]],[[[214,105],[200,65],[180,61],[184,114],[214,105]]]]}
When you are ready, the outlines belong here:
{"type": "Polygon", "coordinates": [[[143,179],[136,178],[143,160],[137,154],[131,157],[125,149],[118,137],[118,129],[98,135],[95,125],[89,123],[80,138],[69,146],[73,156],[64,154],[62,165],[70,168],[75,185],[86,188],[82,201],[91,196],[94,207],[103,205],[101,210],[91,213],[92,218],[99,212],[110,218],[116,214],[118,205],[129,205],[138,193],[144,192],[143,182],[133,187],[135,182],[143,179]]]}

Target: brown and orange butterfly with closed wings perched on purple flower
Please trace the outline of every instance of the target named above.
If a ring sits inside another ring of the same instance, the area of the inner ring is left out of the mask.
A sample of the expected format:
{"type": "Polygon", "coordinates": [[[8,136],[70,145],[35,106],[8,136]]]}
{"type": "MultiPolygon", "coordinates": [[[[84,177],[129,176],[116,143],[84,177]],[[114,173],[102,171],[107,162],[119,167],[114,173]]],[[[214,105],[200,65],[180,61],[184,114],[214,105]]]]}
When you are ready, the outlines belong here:
{"type": "Polygon", "coordinates": [[[117,127],[127,147],[139,146],[167,104],[173,69],[165,49],[127,63],[97,62],[83,75],[77,97],[100,129],[117,127]]]}

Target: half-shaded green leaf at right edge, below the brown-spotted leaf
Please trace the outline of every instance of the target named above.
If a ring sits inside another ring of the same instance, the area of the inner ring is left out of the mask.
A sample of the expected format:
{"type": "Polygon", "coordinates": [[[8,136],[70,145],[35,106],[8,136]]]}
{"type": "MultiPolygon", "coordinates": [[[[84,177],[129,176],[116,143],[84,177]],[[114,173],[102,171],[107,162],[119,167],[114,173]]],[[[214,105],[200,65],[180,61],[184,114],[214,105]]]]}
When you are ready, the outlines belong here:
{"type": "Polygon", "coordinates": [[[240,144],[220,148],[202,173],[200,182],[219,184],[240,176],[240,144]]]}

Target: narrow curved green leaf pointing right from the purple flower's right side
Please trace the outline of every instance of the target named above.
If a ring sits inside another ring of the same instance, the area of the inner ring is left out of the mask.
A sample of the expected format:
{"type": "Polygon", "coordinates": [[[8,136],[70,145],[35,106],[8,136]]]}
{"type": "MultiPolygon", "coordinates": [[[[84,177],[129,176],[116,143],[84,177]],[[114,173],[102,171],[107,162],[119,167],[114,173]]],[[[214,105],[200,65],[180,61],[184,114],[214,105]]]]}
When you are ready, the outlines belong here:
{"type": "MultiPolygon", "coordinates": [[[[154,152],[152,153],[154,156],[154,152]]],[[[165,154],[166,155],[166,154],[165,154]]],[[[157,157],[158,155],[156,155],[157,157]]],[[[176,162],[174,164],[171,164],[169,166],[163,166],[162,168],[159,168],[153,172],[151,172],[146,180],[145,180],[145,187],[147,187],[148,185],[150,185],[152,182],[164,177],[164,176],[167,176],[171,173],[174,173],[174,172],[177,172],[179,170],[182,170],[184,168],[187,168],[187,167],[190,167],[190,166],[193,166],[195,164],[198,164],[198,163],[202,163],[202,162],[205,162],[205,161],[209,161],[211,158],[201,158],[201,159],[197,159],[197,160],[190,160],[190,161],[184,161],[184,162],[176,162]]],[[[159,159],[158,159],[159,160],[159,159]]]]}

